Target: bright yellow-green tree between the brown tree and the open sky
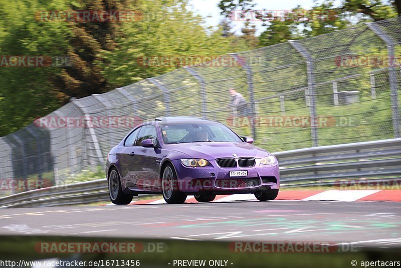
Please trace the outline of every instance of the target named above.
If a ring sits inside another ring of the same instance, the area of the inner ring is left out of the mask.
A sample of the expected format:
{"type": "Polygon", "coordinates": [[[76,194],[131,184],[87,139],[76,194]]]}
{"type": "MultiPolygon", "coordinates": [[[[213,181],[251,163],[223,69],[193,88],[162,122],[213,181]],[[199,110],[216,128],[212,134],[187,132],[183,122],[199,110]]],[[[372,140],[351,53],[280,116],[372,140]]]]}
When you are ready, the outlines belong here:
{"type": "Polygon", "coordinates": [[[103,74],[113,87],[181,67],[174,65],[174,61],[168,66],[157,62],[147,65],[143,59],[146,63],[146,59],[162,56],[217,56],[248,48],[228,33],[228,25],[221,24],[217,30],[204,29],[203,19],[189,11],[187,0],[143,1],[137,5],[143,13],[142,20],[122,25],[116,49],[102,52],[103,74]]]}

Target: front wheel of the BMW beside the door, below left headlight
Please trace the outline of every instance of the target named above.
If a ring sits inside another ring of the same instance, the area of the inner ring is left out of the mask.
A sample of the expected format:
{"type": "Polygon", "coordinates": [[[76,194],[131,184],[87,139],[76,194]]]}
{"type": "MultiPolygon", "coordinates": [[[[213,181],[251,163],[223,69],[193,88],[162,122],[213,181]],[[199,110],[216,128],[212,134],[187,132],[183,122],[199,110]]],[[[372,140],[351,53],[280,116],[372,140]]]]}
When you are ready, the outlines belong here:
{"type": "Polygon", "coordinates": [[[161,172],[161,192],[167,204],[183,204],[186,195],[178,189],[177,174],[174,167],[168,163],[161,172]]]}

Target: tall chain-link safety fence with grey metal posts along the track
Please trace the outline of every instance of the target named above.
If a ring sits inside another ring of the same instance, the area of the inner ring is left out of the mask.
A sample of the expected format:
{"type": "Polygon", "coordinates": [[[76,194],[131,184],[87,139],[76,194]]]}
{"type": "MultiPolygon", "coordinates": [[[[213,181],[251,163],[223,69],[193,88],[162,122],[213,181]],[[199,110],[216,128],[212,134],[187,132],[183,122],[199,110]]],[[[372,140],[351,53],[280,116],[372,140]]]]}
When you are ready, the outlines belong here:
{"type": "Polygon", "coordinates": [[[230,54],[235,65],[186,66],[72,98],[0,138],[0,191],[20,191],[16,181],[54,185],[103,169],[109,150],[134,125],[157,116],[219,120],[270,152],[399,138],[400,45],[395,18],[230,54]],[[229,88],[246,98],[245,115],[231,105],[229,88]],[[105,126],[105,118],[117,122],[105,126]]]}

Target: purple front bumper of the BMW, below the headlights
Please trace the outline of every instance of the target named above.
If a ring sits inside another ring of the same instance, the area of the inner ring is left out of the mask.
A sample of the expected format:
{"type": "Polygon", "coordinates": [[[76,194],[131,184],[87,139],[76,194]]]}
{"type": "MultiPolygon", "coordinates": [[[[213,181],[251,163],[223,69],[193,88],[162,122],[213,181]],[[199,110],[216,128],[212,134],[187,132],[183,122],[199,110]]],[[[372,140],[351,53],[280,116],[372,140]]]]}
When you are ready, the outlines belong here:
{"type": "Polygon", "coordinates": [[[177,174],[178,189],[187,194],[255,193],[279,189],[280,172],[277,163],[261,165],[260,159],[249,168],[221,168],[216,161],[209,160],[206,167],[185,167],[180,160],[173,161],[177,174]],[[246,177],[230,177],[230,171],[248,171],[246,177]]]}

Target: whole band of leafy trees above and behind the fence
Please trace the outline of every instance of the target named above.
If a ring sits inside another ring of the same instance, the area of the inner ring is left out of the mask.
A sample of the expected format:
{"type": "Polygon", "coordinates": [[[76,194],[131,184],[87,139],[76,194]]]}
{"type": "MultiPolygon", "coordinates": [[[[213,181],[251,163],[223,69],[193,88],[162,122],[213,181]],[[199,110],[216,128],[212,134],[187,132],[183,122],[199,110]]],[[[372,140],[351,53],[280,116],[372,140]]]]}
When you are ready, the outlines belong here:
{"type": "MultiPolygon", "coordinates": [[[[355,18],[359,22],[394,17],[401,10],[399,1],[344,0],[340,7],[325,1],[314,10],[336,11],[335,20],[273,20],[256,37],[249,22],[241,36],[232,33],[228,20],[217,30],[205,29],[203,18],[187,6],[188,0],[0,0],[0,56],[71,59],[71,66],[64,67],[0,68],[0,136],[50,113],[71,97],[106,92],[180,67],[143,66],[143,57],[224,55],[337,31],[355,23],[355,18]],[[132,22],[107,23],[38,20],[40,11],[79,10],[130,10],[142,16],[132,22]]],[[[252,0],[219,3],[227,17],[233,10],[253,7],[252,0]]]]}

